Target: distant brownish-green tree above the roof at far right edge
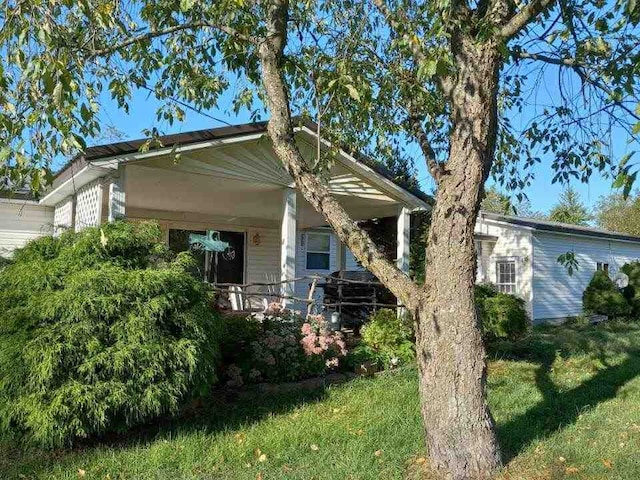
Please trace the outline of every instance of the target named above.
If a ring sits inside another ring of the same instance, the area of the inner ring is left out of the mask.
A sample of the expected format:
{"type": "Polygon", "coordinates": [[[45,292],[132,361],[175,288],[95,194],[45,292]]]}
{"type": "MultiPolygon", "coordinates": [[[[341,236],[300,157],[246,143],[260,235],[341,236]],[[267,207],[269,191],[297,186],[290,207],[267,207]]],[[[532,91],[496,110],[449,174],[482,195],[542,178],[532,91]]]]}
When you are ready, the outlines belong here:
{"type": "Polygon", "coordinates": [[[640,236],[640,191],[627,198],[622,193],[600,197],[595,220],[605,230],[640,236]]]}

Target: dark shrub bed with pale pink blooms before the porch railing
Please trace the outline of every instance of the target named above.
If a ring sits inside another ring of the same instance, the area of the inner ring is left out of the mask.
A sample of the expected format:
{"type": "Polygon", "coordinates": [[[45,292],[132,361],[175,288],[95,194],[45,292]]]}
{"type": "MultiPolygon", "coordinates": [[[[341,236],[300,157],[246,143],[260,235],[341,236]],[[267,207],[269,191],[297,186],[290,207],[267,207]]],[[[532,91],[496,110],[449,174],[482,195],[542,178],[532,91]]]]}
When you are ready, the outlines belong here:
{"type": "Polygon", "coordinates": [[[222,320],[222,362],[229,386],[324,375],[346,355],[342,334],[324,317],[304,318],[272,304],[261,315],[222,320]]]}

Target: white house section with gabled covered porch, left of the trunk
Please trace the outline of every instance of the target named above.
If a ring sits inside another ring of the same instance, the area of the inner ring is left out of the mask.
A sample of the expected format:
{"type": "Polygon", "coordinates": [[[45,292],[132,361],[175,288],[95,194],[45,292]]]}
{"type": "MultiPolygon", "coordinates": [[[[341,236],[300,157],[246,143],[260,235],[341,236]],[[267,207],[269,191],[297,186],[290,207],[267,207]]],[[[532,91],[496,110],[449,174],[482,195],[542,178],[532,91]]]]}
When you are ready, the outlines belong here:
{"type": "MultiPolygon", "coordinates": [[[[316,129],[311,123],[295,129],[309,161],[317,155],[316,129]]],[[[220,232],[231,248],[202,259],[211,282],[286,281],[286,295],[306,297],[309,280],[295,278],[360,268],[296,190],[273,152],[266,123],[158,140],[161,147],[147,151],[141,151],[144,140],[88,148],[60,169],[39,202],[8,200],[13,203],[0,213],[0,230],[15,238],[6,242],[6,253],[47,227],[57,234],[127,218],[158,221],[176,250],[188,248],[191,233],[220,232]],[[22,223],[26,233],[17,235],[15,225],[22,223]]],[[[320,142],[320,148],[329,147],[320,142]]],[[[409,214],[429,208],[429,198],[398,185],[383,167],[345,151],[337,153],[328,176],[332,194],[352,218],[397,217],[397,264],[408,272],[409,214]]]]}

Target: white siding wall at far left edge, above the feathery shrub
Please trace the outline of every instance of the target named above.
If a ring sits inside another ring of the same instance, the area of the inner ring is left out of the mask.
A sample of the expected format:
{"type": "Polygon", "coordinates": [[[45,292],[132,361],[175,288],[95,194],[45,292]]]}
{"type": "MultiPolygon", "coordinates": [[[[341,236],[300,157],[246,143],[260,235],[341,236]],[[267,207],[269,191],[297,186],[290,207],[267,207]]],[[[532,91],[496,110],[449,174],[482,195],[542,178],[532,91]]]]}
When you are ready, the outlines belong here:
{"type": "Polygon", "coordinates": [[[53,208],[0,198],[0,256],[9,257],[29,240],[50,235],[53,208]]]}

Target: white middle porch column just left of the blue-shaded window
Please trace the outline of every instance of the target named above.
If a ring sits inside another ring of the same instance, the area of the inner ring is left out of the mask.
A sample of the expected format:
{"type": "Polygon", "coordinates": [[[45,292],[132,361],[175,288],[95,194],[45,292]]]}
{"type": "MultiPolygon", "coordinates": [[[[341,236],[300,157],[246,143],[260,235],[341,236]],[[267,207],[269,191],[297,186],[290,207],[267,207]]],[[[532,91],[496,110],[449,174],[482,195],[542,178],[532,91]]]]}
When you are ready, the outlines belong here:
{"type": "MultiPolygon", "coordinates": [[[[295,285],[293,279],[296,275],[296,191],[293,188],[285,188],[282,195],[282,228],[280,247],[280,280],[286,281],[281,286],[281,294],[293,296],[295,285]]],[[[283,299],[282,304],[290,306],[293,300],[283,299]]]]}

